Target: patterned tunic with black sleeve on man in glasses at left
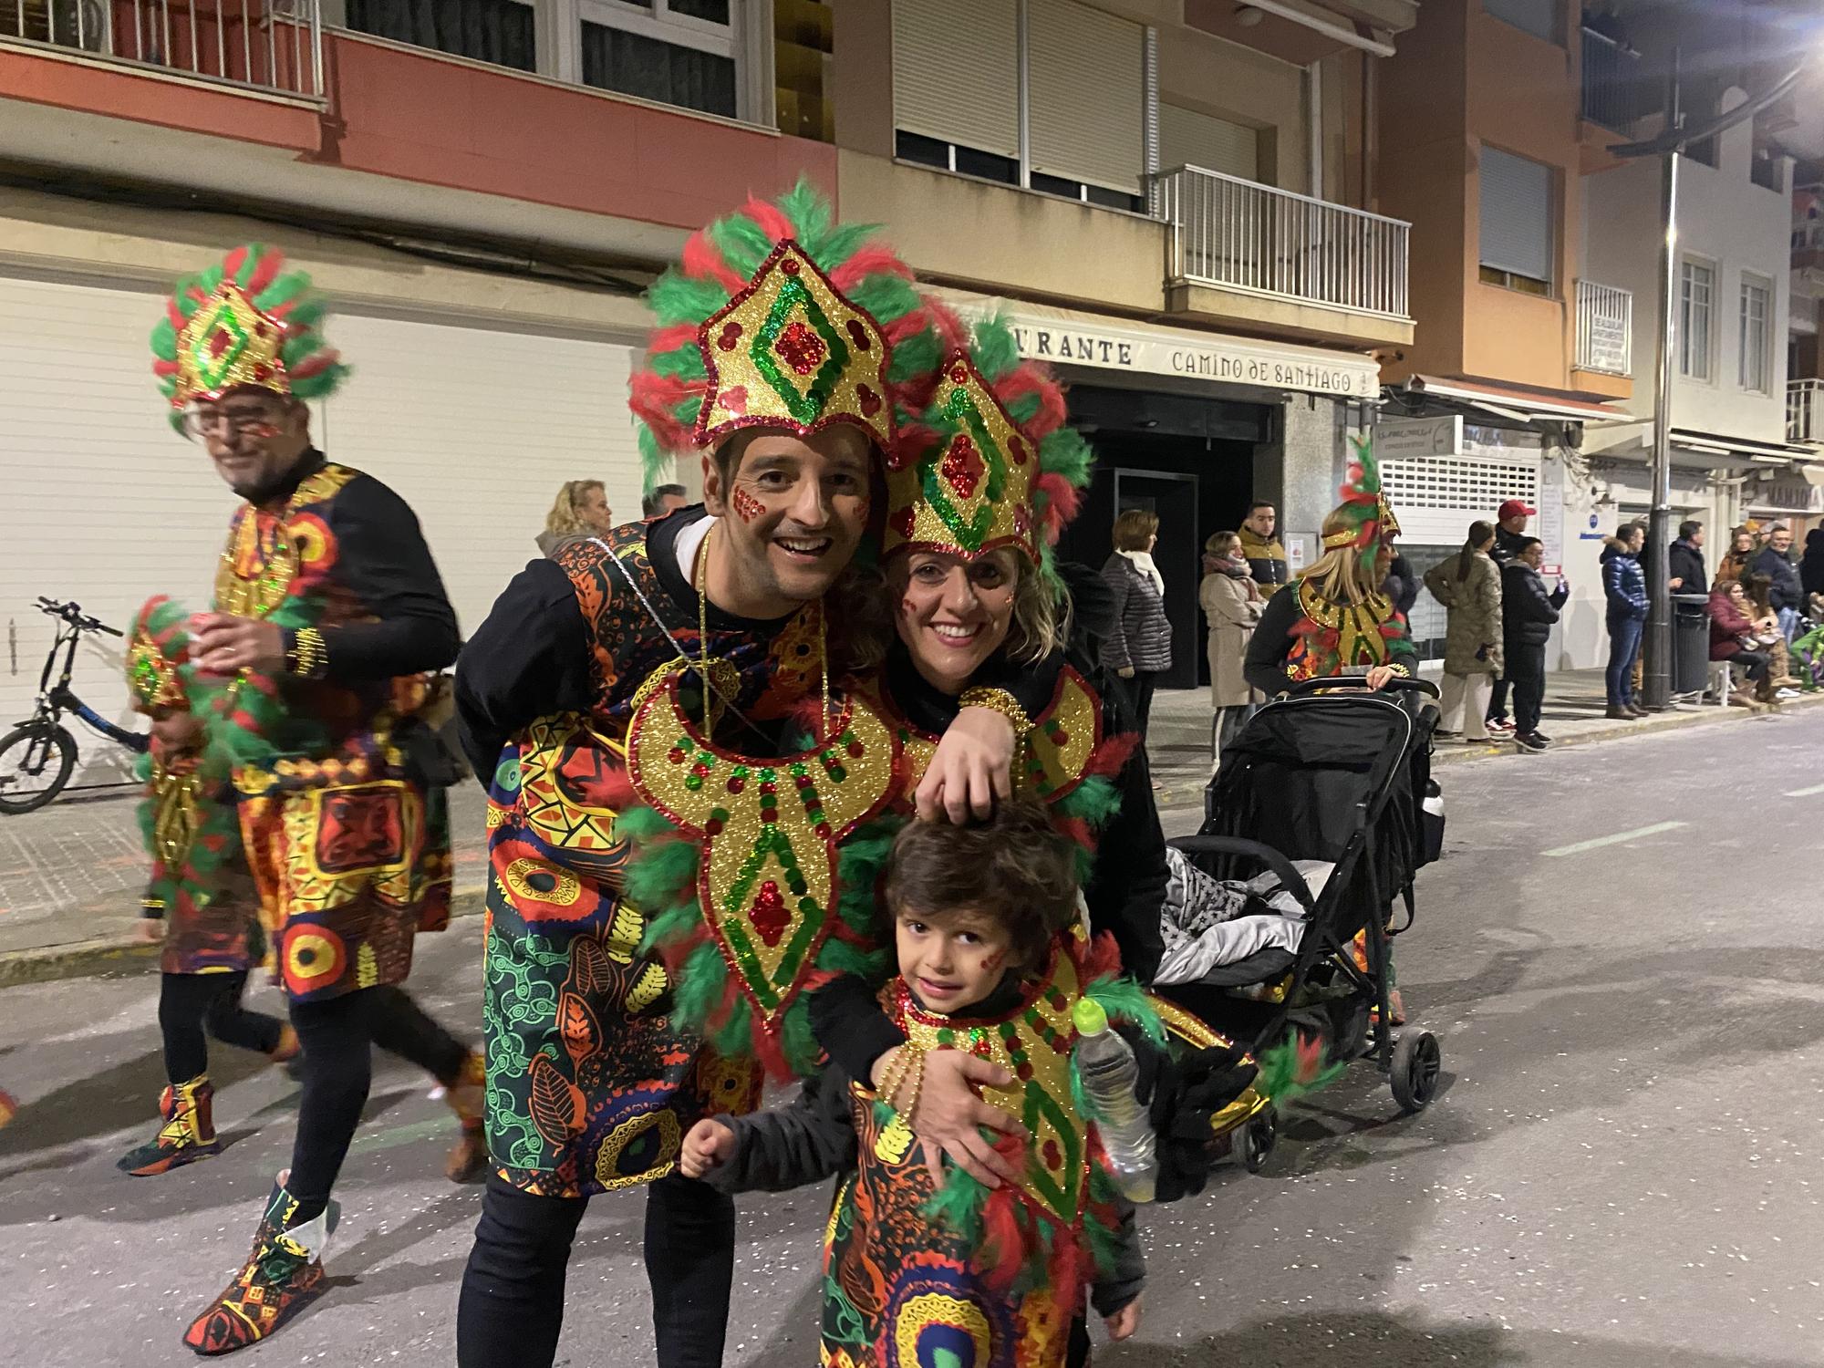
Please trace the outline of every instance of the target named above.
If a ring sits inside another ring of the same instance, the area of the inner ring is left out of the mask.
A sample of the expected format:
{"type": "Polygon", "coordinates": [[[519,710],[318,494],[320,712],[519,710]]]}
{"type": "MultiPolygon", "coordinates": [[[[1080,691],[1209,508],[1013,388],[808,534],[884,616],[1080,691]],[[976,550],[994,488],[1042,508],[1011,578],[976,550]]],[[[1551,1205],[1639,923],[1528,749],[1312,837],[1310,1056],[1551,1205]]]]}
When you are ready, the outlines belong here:
{"type": "Polygon", "coordinates": [[[230,695],[255,739],[233,786],[285,989],[310,1001],[401,983],[412,938],[447,925],[451,897],[445,799],[409,770],[398,735],[432,693],[398,666],[454,651],[416,520],[378,480],[316,456],[288,498],[235,513],[215,609],[336,642],[325,677],[285,677],[275,695],[243,680],[230,695]],[[376,620],[383,595],[423,604],[376,620]]]}

